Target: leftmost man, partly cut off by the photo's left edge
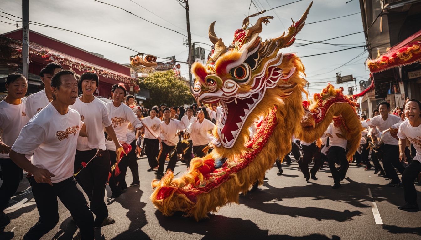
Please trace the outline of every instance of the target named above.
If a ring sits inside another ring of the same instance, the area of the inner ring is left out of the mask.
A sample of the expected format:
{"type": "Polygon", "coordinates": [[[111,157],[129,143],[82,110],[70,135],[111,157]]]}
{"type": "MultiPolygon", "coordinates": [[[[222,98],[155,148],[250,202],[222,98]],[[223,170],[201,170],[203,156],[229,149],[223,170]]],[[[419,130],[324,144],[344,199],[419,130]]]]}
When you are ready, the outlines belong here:
{"type": "Polygon", "coordinates": [[[10,224],[9,217],[3,213],[10,198],[16,193],[23,170],[9,157],[10,148],[19,136],[29,118],[25,113],[25,94],[28,90],[27,79],[19,73],[9,74],[5,87],[8,91],[4,100],[0,101],[0,166],[3,183],[0,187],[0,233],[10,224]]]}

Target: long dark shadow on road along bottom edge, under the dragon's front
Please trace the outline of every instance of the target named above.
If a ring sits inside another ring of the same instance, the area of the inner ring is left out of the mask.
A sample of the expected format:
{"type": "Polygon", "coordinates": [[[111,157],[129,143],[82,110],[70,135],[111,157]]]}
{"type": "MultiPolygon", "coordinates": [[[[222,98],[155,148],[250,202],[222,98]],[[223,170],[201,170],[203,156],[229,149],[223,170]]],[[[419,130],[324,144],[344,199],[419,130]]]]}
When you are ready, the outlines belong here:
{"type": "Polygon", "coordinates": [[[209,219],[196,222],[193,218],[175,214],[164,216],[160,211],[155,212],[161,227],[172,232],[204,235],[202,240],[214,239],[289,239],[289,240],[340,240],[338,236],[329,238],[326,235],[312,234],[306,236],[269,235],[269,230],[260,229],[254,222],[240,218],[228,218],[221,215],[209,214],[209,219]]]}

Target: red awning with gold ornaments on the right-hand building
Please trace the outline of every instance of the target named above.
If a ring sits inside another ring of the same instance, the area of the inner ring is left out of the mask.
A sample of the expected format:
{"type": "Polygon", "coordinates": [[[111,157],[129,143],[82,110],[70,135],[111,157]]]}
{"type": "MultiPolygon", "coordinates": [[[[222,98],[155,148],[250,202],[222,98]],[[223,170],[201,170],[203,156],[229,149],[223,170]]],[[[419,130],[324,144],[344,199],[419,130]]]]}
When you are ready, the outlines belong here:
{"type": "Polygon", "coordinates": [[[421,61],[421,30],[394,45],[376,59],[367,61],[370,72],[375,73],[393,67],[421,61]]]}

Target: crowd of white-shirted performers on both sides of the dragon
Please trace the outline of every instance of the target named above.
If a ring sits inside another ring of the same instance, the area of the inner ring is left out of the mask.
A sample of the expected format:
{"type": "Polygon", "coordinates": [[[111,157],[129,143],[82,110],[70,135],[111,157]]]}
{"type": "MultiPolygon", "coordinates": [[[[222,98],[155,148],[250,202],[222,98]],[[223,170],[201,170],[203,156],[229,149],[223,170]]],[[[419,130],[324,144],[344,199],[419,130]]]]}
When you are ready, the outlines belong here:
{"type": "MultiPolygon", "coordinates": [[[[8,95],[0,102],[0,231],[10,223],[3,211],[19,187],[23,170],[28,172],[40,215],[24,239],[40,239],[56,226],[57,198],[72,214],[82,238],[93,239],[94,227],[115,223],[104,202],[106,185],[111,198],[138,186],[140,156],[146,155],[147,171],[155,171],[161,179],[167,170],[174,171],[177,161],[188,167],[192,158],[210,151],[220,106],[161,104],[146,109],[128,95],[124,84],[114,84],[112,99],[104,102],[95,96],[99,85],[95,72],[79,76],[54,62],[40,71],[40,77],[45,89],[25,97],[27,79],[18,73],[8,75],[8,95]],[[133,178],[130,185],[126,183],[128,168],[133,178]]],[[[393,111],[388,102],[382,102],[371,118],[362,116],[365,130],[353,159],[346,158],[347,141],[336,121],[314,142],[293,136],[292,156],[306,181],[317,180],[317,171],[328,166],[333,189],[341,187],[349,164],[355,161],[390,179],[388,185],[402,185],[405,205],[398,208],[418,211],[413,182],[420,181],[421,172],[420,109],[421,103],[414,99],[393,111]]],[[[290,165],[292,160],[289,155],[274,158],[281,176],[282,163],[290,165]]]]}

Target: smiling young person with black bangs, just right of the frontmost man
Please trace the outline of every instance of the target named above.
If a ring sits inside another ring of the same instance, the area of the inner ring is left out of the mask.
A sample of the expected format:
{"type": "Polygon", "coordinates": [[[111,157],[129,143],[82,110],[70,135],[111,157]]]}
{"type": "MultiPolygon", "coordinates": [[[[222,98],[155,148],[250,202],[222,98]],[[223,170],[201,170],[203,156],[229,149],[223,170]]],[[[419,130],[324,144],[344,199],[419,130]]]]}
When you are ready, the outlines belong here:
{"type": "Polygon", "coordinates": [[[93,95],[98,84],[99,78],[96,73],[85,72],[82,74],[78,85],[83,94],[70,107],[79,112],[80,119],[85,122],[86,132],[89,136],[88,138],[77,137],[74,172],[75,174],[80,172],[76,175],[76,180],[88,195],[89,206],[96,216],[94,226],[103,227],[115,223],[114,219],[108,216],[107,205],[104,202],[110,158],[105,148],[103,125],[108,136],[113,140],[115,148],[118,149],[122,146],[111,126],[105,103],[93,95]],[[90,161],[91,159],[92,161],[90,161]],[[86,163],[88,165],[83,167],[82,164],[86,163]]]}

